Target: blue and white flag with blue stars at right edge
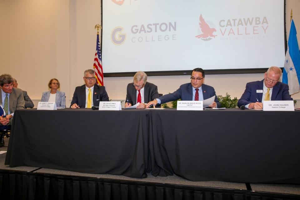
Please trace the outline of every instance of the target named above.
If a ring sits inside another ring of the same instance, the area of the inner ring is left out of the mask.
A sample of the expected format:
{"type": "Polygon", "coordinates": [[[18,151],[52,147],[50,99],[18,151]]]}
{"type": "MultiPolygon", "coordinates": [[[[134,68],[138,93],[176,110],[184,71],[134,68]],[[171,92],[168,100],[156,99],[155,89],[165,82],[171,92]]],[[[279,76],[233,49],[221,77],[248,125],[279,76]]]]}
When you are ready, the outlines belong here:
{"type": "Polygon", "coordinates": [[[288,36],[282,82],[288,84],[290,95],[300,91],[300,51],[294,20],[292,20],[288,36]]]}

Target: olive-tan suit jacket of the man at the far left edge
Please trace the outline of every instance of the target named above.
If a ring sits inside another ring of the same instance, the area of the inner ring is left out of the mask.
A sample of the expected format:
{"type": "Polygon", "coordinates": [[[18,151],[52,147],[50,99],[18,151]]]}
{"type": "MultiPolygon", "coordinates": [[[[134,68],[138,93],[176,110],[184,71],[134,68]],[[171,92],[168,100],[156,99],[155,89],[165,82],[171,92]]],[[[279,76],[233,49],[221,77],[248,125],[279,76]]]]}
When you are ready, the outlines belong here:
{"type": "MultiPolygon", "coordinates": [[[[2,89],[0,88],[2,93],[2,89]]],[[[2,95],[0,95],[0,103],[2,104],[2,95]]],[[[4,105],[2,105],[4,107],[4,105]]],[[[25,101],[23,97],[23,92],[19,88],[12,88],[12,93],[9,94],[9,111],[14,113],[17,109],[25,108],[25,101]]]]}

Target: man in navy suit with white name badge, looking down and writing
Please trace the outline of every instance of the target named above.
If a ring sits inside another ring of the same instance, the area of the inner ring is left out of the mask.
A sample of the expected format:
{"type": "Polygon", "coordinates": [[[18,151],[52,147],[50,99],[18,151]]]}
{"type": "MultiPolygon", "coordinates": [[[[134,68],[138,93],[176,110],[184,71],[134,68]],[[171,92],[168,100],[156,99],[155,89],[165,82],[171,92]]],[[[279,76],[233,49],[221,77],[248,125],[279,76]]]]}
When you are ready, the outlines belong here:
{"type": "Polygon", "coordinates": [[[246,84],[245,92],[238,100],[238,107],[262,109],[263,101],[293,100],[288,93],[288,85],[279,82],[281,69],[270,67],[264,74],[264,79],[246,84]]]}

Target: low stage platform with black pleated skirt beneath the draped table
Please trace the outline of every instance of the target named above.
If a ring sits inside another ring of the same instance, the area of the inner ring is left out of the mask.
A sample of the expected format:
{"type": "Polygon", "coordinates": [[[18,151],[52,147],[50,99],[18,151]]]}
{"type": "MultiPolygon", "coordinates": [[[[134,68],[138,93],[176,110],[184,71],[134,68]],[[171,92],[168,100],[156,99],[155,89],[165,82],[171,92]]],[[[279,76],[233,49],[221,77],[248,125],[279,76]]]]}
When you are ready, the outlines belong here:
{"type": "MultiPolygon", "coordinates": [[[[9,138],[5,138],[6,151],[9,138]]],[[[51,151],[51,149],[49,149],[51,151]]],[[[176,175],[130,178],[9,167],[0,154],[0,199],[300,199],[300,185],[193,182],[176,175]]]]}

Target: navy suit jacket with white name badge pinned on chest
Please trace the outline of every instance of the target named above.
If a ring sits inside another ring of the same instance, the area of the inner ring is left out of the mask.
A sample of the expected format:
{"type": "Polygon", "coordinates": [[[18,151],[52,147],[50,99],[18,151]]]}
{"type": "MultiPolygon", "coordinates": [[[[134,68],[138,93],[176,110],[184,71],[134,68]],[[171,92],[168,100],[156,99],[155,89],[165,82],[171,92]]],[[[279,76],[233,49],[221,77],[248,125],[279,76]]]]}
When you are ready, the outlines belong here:
{"type": "MultiPolygon", "coordinates": [[[[237,106],[247,105],[249,103],[255,103],[258,99],[260,102],[262,100],[262,93],[257,93],[256,90],[263,89],[263,81],[254,81],[246,84],[245,92],[242,97],[238,100],[237,106]]],[[[273,87],[271,101],[280,100],[293,100],[288,93],[288,85],[285,83],[278,82],[273,87]]]]}

